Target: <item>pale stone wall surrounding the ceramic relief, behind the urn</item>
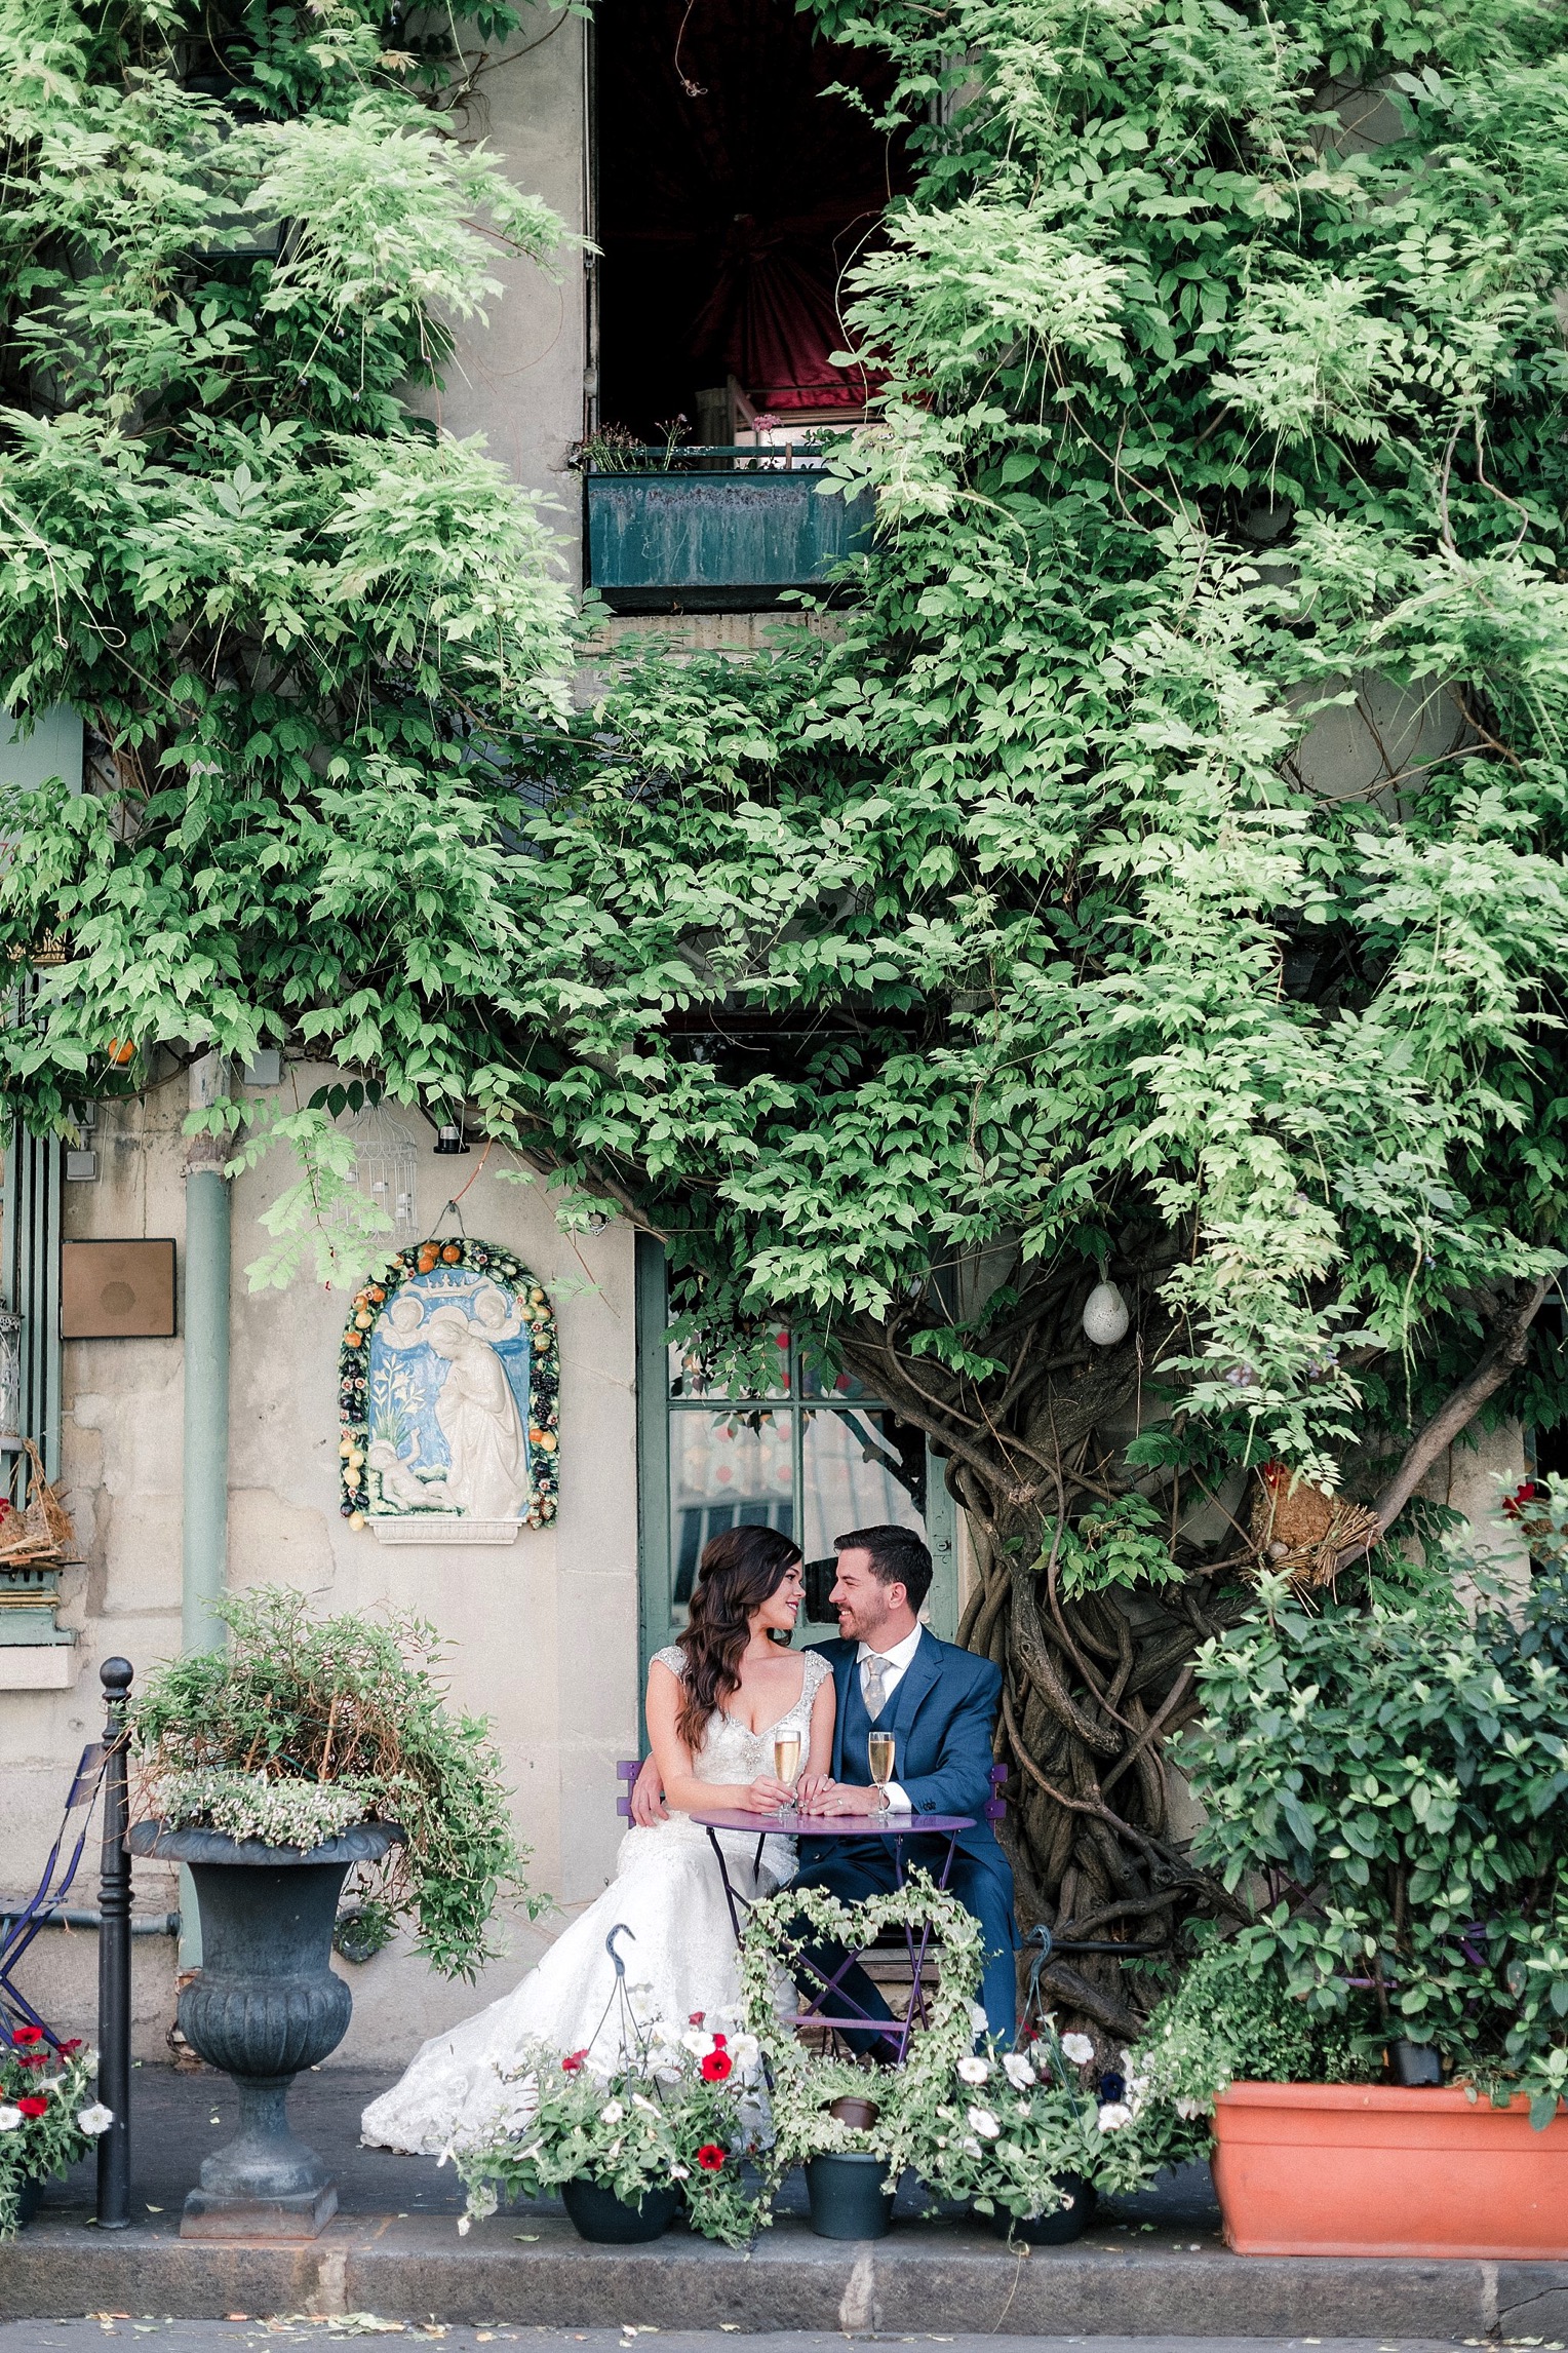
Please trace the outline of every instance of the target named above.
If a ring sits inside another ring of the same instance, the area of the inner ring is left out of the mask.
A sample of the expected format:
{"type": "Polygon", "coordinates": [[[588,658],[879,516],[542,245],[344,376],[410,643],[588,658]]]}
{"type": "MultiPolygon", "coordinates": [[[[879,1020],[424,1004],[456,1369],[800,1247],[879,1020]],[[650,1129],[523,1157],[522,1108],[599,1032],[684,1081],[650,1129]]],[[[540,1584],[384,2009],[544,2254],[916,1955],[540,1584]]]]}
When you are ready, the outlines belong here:
{"type": "MultiPolygon", "coordinates": [[[[327,1073],[301,1071],[301,1096],[327,1073]]],[[[66,1188],[68,1238],[174,1235],[183,1275],[183,1080],[103,1113],[96,1184],[66,1188]]],[[[442,1160],[418,1129],[421,1226],[458,1184],[468,1233],[520,1252],[550,1292],[562,1341],[562,1492],[548,1529],[510,1546],[381,1546],[339,1511],[336,1355],[348,1301],[308,1278],[252,1294],[259,1214],[292,1179],[280,1148],[233,1186],[230,1584],[299,1586],[331,1609],[418,1609],[451,1642],[454,1699],[494,1718],[534,1847],[531,1880],[564,1906],[611,1875],[623,1824],[616,1758],[637,1741],[637,1457],[632,1235],[567,1238],[541,1184],[508,1184],[503,1155],[442,1160]]],[[[451,1231],[451,1221],[447,1221],[451,1231]]],[[[66,1344],[63,1489],[85,1567],[66,1577],[78,1628],[66,1692],[5,1692],[5,1892],[35,1882],[71,1765],[99,1727],[96,1666],[122,1652],[146,1673],[181,1640],[181,1341],[66,1344]]],[[[75,1901],[96,1901],[96,1873],[75,1901]]],[[[176,1904],[174,1880],[136,1866],[136,1911],[176,1904]]],[[[409,1941],[348,1969],[355,2019],[343,2059],[393,2064],[508,1991],[559,1927],[517,1920],[512,1953],[480,1988],[433,1977],[409,1941]]],[[[33,2000],[71,2031],[92,2024],[96,1937],[49,1932],[28,1960],[33,2000]]],[[[162,2052],[176,1948],[136,1939],[139,2049],[162,2052]]]]}

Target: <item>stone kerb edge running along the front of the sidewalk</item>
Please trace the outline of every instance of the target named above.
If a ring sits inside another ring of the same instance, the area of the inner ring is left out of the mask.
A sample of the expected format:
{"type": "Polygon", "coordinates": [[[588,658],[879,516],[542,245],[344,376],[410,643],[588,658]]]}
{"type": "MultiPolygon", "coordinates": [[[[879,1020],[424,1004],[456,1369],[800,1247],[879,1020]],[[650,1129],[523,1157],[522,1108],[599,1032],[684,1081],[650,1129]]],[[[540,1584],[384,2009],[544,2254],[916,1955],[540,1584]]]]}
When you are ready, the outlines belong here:
{"type": "Polygon", "coordinates": [[[950,2224],[839,2245],[785,2219],[750,2254],[672,2233],[588,2247],[552,2217],[339,2217],[310,2247],[99,2233],[45,2214],[0,2247],[0,2320],[73,2313],[378,2313],[552,2327],[889,2329],[1009,2337],[1488,2337],[1568,2332],[1568,2264],[1192,2254],[1171,2240],[1037,2247],[950,2224]],[[527,2224],[527,2235],[520,2233],[527,2224]]]}

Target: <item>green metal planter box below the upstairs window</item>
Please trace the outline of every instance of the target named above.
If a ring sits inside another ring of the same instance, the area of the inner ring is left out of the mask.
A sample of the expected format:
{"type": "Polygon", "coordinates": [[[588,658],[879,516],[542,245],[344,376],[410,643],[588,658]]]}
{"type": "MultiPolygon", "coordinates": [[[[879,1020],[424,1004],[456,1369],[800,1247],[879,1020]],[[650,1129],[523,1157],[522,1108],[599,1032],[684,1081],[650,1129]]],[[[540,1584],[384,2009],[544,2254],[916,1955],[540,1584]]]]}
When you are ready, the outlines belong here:
{"type": "Polygon", "coordinates": [[[759,464],[757,449],[682,449],[649,473],[592,468],[588,579],[611,612],[759,612],[870,546],[872,494],[839,499],[820,482],[820,466],[759,464]]]}

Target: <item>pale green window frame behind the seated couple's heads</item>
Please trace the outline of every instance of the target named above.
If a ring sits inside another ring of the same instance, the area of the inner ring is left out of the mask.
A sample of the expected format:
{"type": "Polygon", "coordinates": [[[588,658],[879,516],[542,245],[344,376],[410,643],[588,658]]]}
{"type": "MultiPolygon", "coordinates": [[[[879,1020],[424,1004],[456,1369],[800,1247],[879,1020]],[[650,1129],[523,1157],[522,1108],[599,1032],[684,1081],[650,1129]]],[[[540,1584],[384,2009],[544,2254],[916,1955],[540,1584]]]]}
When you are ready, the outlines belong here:
{"type": "MultiPolygon", "coordinates": [[[[684,1624],[682,1588],[691,1574],[701,1544],[715,1532],[715,1525],[733,1525],[736,1511],[743,1520],[766,1518],[769,1525],[785,1527],[790,1534],[802,1537],[809,1551],[813,1548],[813,1539],[823,1539],[823,1553],[832,1534],[842,1534],[842,1529],[827,1529],[823,1537],[823,1532],[813,1529],[811,1522],[806,1522],[806,1532],[802,1534],[797,1525],[802,1499],[806,1499],[806,1513],[811,1511],[806,1457],[809,1449],[816,1452],[816,1440],[825,1435],[823,1426],[832,1426],[835,1440],[839,1435],[844,1438],[842,1454],[846,1459],[849,1454],[860,1454],[860,1461],[879,1461],[886,1468],[891,1468],[893,1461],[886,1447],[879,1445],[882,1433],[870,1419],[889,1414],[889,1402],[860,1391],[844,1395],[839,1391],[813,1388],[799,1344],[788,1341],[788,1353],[780,1351],[785,1355],[785,1381],[776,1395],[689,1395],[684,1393],[684,1384],[672,1379],[670,1348],[665,1344],[668,1327],[670,1294],[663,1245],[651,1235],[639,1233],[637,1555],[644,1680],[654,1652],[663,1649],[665,1642],[672,1642],[684,1624]],[[679,1393],[672,1393],[677,1386],[679,1393]],[[677,1464],[684,1457],[684,1440],[693,1417],[698,1426],[703,1421],[708,1428],[724,1424],[729,1433],[736,1433],[738,1428],[759,1431],[766,1426],[766,1442],[776,1473],[776,1499],[766,1504],[764,1499],[752,1497],[733,1508],[722,1504],[722,1499],[712,1506],[682,1506],[682,1532],[677,1541],[677,1464]]],[[[940,1457],[933,1454],[924,1440],[919,1440],[919,1447],[924,1480],[917,1473],[917,1485],[910,1487],[907,1459],[903,1475],[893,1471],[893,1478],[910,1497],[910,1501],[900,1508],[900,1518],[907,1518],[912,1525],[922,1525],[926,1544],[931,1546],[933,1579],[931,1600],[926,1605],[931,1631],[940,1635],[940,1640],[952,1642],[959,1624],[957,1506],[947,1494],[940,1457]]],[[[865,1513],[860,1525],[867,1525],[870,1518],[872,1513],[865,1513]]],[[[797,1642],[820,1642],[830,1635],[832,1624],[802,1621],[797,1642]]]]}

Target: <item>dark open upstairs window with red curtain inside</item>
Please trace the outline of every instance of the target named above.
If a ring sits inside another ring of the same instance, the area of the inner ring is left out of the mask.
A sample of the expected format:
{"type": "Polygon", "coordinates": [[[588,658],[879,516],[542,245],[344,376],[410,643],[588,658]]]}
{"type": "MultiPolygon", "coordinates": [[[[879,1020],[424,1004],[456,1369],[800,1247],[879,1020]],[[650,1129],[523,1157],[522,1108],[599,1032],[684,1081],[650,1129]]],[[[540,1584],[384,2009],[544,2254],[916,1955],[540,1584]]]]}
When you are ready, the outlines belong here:
{"type": "Polygon", "coordinates": [[[649,447],[856,424],[842,278],[907,186],[870,108],[891,75],[792,0],[599,0],[597,414],[649,447]]]}

